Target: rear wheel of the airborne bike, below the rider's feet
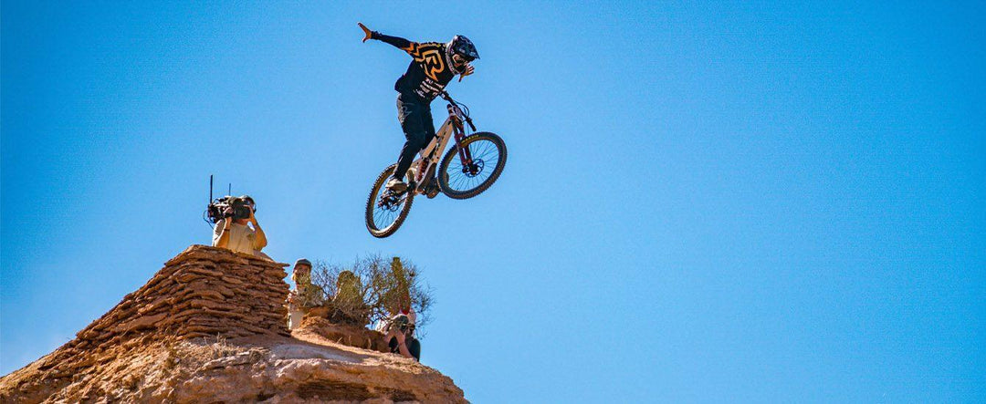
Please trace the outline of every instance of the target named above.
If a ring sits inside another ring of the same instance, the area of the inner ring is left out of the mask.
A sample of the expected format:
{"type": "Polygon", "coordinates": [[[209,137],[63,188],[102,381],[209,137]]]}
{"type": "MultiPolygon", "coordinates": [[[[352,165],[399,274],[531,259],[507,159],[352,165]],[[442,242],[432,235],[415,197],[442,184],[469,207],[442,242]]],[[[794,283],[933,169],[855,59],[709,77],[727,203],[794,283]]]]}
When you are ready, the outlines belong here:
{"type": "Polygon", "coordinates": [[[411,203],[414,202],[414,190],[411,188],[399,194],[387,190],[385,185],[393,174],[393,168],[396,168],[396,165],[380,173],[373,188],[370,189],[370,196],[367,197],[367,230],[375,237],[390,236],[400,229],[400,225],[407,218],[407,213],[411,211],[411,203]]]}

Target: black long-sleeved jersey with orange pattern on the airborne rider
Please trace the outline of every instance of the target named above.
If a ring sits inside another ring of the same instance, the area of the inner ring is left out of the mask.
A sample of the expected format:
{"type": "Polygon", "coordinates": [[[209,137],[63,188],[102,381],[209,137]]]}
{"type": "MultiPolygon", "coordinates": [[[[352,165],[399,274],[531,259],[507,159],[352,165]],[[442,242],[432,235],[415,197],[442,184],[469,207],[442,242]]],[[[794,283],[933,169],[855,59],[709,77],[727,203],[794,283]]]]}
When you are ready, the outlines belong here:
{"type": "Polygon", "coordinates": [[[458,74],[449,60],[446,44],[441,42],[412,42],[402,37],[373,32],[371,38],[383,40],[407,52],[414,59],[407,66],[393,89],[411,93],[425,101],[432,101],[458,74]]]}

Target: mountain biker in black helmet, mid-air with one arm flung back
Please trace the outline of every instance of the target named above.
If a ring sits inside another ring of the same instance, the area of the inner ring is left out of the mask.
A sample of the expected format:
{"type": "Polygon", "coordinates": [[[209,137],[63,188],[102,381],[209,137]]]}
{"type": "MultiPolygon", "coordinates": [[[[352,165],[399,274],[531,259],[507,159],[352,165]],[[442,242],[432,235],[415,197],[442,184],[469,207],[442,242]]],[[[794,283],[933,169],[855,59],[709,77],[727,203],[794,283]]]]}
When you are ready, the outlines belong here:
{"type": "Polygon", "coordinates": [[[431,101],[438,97],[445,86],[459,75],[458,81],[474,71],[470,62],[479,58],[476,47],[469,38],[456,35],[448,43],[417,43],[397,36],[370,31],[363,23],[358,23],[367,39],[383,40],[406,51],[414,59],[393,89],[397,96],[397,119],[404,131],[404,148],[397,158],[397,167],[387,181],[387,189],[393,192],[407,190],[404,174],[411,167],[414,155],[421,151],[435,136],[435,123],[432,122],[431,101]]]}

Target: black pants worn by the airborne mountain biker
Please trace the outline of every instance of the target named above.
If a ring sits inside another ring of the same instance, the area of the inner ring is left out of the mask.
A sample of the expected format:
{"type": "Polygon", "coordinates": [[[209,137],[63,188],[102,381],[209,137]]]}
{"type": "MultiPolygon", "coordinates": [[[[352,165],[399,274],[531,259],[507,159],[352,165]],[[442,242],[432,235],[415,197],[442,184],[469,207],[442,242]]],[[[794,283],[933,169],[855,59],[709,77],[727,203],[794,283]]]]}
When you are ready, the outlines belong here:
{"type": "Polygon", "coordinates": [[[424,101],[413,94],[397,96],[397,119],[404,131],[404,148],[397,158],[397,168],[393,176],[403,178],[411,167],[414,155],[424,149],[435,137],[435,123],[431,117],[431,101],[424,101]]]}

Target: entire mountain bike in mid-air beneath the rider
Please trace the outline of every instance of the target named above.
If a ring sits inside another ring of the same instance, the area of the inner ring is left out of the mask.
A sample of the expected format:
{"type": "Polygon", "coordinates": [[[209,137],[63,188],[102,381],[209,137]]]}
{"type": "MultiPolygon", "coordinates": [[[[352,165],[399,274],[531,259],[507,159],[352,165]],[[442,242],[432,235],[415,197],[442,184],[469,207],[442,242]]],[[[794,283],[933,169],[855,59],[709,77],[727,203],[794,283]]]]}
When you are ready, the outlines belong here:
{"type": "Polygon", "coordinates": [[[449,101],[449,117],[408,168],[407,190],[394,192],[385,186],[396,164],[385,168],[370,189],[366,224],[373,236],[393,235],[407,219],[415,195],[423,194],[431,199],[441,192],[453,199],[471,198],[489,188],[503,172],[507,162],[503,139],[492,132],[476,132],[468,106],[453,100],[446,92],[440,97],[449,101]],[[466,134],[465,125],[472,134],[466,134]],[[454,146],[440,163],[439,158],[450,140],[455,140],[454,146]]]}

